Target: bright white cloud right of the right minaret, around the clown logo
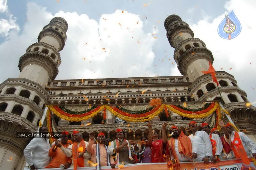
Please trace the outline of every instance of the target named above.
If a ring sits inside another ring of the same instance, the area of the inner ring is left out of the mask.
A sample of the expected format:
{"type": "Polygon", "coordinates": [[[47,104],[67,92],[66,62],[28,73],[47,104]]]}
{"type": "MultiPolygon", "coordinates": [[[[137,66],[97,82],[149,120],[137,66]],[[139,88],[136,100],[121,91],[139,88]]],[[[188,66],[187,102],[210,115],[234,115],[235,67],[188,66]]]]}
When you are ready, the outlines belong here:
{"type": "Polygon", "coordinates": [[[234,75],[239,87],[247,92],[247,96],[252,102],[256,101],[254,75],[256,72],[256,23],[253,22],[255,7],[255,1],[230,0],[225,4],[227,12],[215,18],[212,22],[205,19],[200,20],[195,25],[190,25],[194,31],[194,37],[204,41],[207,48],[212,51],[215,70],[221,71],[221,68],[223,68],[222,71],[234,75]],[[218,25],[225,18],[225,14],[232,10],[242,25],[242,31],[234,39],[222,39],[217,33],[218,25]]]}

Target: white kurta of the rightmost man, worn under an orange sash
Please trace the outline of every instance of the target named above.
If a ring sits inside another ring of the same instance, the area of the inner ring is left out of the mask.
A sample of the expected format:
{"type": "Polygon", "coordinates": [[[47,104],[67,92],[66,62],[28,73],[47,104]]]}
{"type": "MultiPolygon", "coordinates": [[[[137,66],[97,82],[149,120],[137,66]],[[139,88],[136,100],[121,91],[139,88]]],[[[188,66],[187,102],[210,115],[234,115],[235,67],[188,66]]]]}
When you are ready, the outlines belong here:
{"type": "MultiPolygon", "coordinates": [[[[246,136],[243,132],[238,132],[238,135],[239,135],[239,137],[241,139],[241,142],[242,142],[242,144],[244,146],[244,150],[245,150],[246,154],[249,156],[252,153],[256,153],[256,145],[255,145],[255,143],[253,143],[252,140],[248,136],[246,136]],[[249,151],[249,147],[248,146],[251,148],[252,151],[249,151]]],[[[230,145],[231,142],[233,142],[234,137],[235,137],[235,131],[233,131],[231,133],[231,137],[229,135],[228,140],[227,140],[227,138],[225,136],[225,140],[230,145]]],[[[234,158],[235,158],[235,155],[234,155],[234,158]]]]}

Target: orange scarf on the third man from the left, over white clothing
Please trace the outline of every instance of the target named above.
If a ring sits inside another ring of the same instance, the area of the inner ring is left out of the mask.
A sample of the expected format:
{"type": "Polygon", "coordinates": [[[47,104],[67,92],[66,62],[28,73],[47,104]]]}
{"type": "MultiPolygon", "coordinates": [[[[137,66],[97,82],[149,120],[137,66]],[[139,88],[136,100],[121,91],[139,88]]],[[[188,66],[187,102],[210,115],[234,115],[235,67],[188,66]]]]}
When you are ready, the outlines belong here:
{"type": "MultiPolygon", "coordinates": [[[[85,152],[85,143],[84,143],[83,139],[80,141],[79,150],[81,147],[83,148],[82,152],[84,153],[85,152]]],[[[72,157],[73,157],[73,163],[74,163],[74,170],[76,170],[77,165],[79,167],[84,167],[84,157],[78,158],[80,152],[81,151],[78,151],[77,142],[74,142],[72,145],[72,157]]]]}

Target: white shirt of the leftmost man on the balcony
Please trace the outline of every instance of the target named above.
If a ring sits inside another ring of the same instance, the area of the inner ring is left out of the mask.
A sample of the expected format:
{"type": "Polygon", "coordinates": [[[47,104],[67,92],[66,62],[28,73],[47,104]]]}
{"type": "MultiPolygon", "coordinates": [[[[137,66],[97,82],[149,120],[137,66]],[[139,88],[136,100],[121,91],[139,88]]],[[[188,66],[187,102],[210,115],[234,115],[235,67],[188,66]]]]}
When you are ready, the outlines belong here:
{"type": "Polygon", "coordinates": [[[50,148],[51,146],[48,138],[46,141],[44,138],[32,139],[23,151],[28,165],[34,165],[36,168],[44,168],[49,165],[50,157],[48,153],[50,148]]]}

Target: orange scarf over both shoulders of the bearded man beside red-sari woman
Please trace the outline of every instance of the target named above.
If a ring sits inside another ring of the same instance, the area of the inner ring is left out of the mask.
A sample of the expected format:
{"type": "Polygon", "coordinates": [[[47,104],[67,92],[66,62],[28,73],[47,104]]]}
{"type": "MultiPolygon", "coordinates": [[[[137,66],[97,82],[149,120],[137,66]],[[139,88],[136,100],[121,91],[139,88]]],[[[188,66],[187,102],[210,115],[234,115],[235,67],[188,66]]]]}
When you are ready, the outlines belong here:
{"type": "MultiPolygon", "coordinates": [[[[180,161],[179,161],[178,156],[175,151],[175,139],[171,138],[168,141],[168,145],[170,147],[172,157],[175,158],[176,164],[177,164],[177,166],[179,166],[180,161]]],[[[192,145],[191,145],[190,139],[187,136],[180,135],[178,137],[178,149],[179,149],[180,154],[184,155],[188,159],[190,158],[191,153],[192,153],[192,145]]]]}

